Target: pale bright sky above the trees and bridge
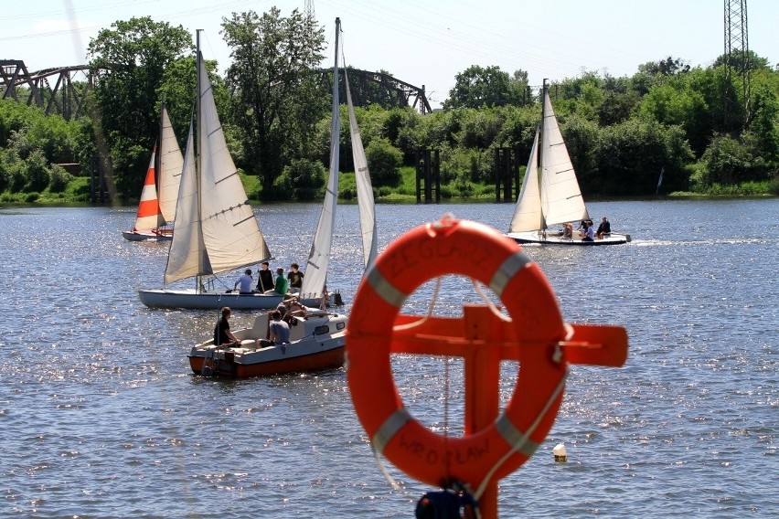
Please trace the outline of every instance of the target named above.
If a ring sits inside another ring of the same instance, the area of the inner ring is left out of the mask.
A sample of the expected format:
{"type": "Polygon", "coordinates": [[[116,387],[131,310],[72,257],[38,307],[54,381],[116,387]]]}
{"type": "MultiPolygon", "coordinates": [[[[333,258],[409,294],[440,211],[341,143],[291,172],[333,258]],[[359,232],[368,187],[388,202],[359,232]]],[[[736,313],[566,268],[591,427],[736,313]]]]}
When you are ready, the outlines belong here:
{"type": "MultiPolygon", "coordinates": [[[[472,65],[528,72],[529,83],[597,71],[632,76],[638,66],[671,56],[708,67],[724,51],[722,0],[312,0],[325,27],[331,67],[335,19],[341,18],[347,66],[387,70],[424,86],[432,108],[449,96],[455,77],[472,65]]],[[[201,48],[224,71],[229,48],[221,21],[232,13],[283,16],[304,11],[305,0],[35,0],[5,2],[0,10],[0,59],[21,59],[27,70],[81,65],[101,28],[151,16],[204,29],[201,48]]],[[[779,63],[779,2],[748,0],[749,48],[779,63]]]]}

